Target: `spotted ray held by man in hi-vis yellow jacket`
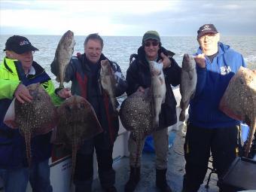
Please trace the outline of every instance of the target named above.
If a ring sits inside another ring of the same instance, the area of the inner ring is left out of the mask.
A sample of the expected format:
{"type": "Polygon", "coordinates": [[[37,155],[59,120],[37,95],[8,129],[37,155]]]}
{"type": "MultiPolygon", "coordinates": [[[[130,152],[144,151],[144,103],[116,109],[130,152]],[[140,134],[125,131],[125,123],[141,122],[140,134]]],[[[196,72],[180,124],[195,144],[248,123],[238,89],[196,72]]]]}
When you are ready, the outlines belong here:
{"type": "Polygon", "coordinates": [[[21,135],[25,137],[26,155],[30,165],[31,139],[53,130],[56,126],[56,108],[40,84],[30,84],[27,88],[33,97],[32,102],[21,103],[14,99],[14,105],[8,109],[5,122],[12,128],[19,128],[21,135]]]}

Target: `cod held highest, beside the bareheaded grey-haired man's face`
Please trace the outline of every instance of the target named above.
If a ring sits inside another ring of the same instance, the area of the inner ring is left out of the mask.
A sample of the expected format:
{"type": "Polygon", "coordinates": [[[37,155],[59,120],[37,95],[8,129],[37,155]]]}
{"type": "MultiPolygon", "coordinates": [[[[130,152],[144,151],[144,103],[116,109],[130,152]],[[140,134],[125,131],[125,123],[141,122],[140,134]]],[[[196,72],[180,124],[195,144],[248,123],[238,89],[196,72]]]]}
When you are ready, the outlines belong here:
{"type": "Polygon", "coordinates": [[[59,40],[58,47],[56,48],[54,63],[58,71],[56,81],[59,82],[59,88],[63,88],[66,66],[68,66],[74,51],[75,39],[72,31],[67,31],[59,40]]]}

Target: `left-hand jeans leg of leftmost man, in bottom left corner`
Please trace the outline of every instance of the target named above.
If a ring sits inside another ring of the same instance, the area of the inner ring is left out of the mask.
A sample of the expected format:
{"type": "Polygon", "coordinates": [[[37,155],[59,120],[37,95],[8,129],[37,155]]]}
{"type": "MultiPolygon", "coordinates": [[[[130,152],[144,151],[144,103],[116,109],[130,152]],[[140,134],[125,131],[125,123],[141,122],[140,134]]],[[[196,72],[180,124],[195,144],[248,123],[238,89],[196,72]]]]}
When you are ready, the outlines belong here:
{"type": "Polygon", "coordinates": [[[29,169],[0,169],[0,179],[3,181],[5,192],[26,192],[29,169]]]}

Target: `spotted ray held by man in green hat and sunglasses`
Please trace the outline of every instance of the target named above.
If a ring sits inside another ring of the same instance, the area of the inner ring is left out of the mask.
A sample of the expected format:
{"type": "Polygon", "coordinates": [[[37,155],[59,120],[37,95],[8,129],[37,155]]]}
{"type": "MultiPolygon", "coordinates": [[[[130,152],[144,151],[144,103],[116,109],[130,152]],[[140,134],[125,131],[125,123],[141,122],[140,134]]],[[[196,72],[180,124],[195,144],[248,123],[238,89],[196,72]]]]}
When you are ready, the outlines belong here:
{"type": "Polygon", "coordinates": [[[136,141],[136,165],[143,139],[154,131],[154,110],[151,101],[151,90],[147,88],[144,93],[137,91],[128,96],[120,106],[120,121],[123,127],[131,132],[130,136],[136,141]]]}

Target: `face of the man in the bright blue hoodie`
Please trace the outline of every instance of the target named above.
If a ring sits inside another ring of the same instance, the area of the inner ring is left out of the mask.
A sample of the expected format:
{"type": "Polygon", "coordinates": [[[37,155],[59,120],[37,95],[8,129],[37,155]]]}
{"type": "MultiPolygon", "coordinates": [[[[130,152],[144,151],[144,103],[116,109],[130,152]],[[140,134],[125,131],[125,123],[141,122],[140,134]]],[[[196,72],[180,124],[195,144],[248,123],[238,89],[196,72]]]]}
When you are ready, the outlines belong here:
{"type": "Polygon", "coordinates": [[[200,44],[203,53],[206,51],[218,49],[218,41],[220,40],[220,35],[217,33],[206,33],[202,37],[198,38],[197,41],[200,44]]]}

